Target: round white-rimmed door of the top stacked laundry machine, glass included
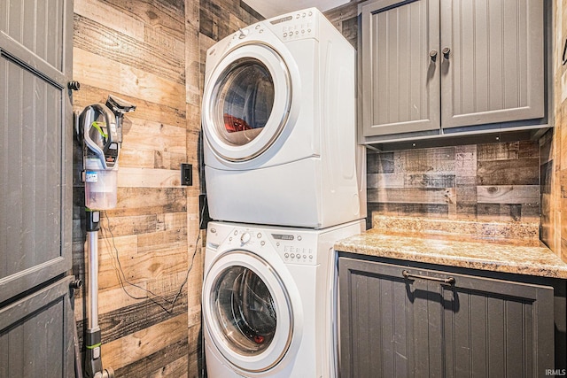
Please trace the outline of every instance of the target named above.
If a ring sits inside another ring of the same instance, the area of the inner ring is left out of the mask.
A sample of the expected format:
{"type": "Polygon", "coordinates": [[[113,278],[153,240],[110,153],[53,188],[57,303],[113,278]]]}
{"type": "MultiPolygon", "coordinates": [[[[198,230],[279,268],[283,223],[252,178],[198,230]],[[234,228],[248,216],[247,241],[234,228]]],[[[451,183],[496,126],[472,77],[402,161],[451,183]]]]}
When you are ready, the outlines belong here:
{"type": "Polygon", "coordinates": [[[230,162],[267,150],[282,133],[291,108],[291,76],[266,44],[245,44],[221,59],[206,82],[203,128],[214,153],[230,162]]]}

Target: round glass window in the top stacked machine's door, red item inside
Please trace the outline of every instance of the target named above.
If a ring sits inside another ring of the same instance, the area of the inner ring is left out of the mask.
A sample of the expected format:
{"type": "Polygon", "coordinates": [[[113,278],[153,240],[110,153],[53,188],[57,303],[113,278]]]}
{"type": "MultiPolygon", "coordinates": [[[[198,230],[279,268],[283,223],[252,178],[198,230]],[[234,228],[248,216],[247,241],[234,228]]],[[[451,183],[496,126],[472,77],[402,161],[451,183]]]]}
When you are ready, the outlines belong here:
{"type": "Polygon", "coordinates": [[[255,58],[241,58],[225,69],[214,89],[214,125],[227,143],[250,143],[268,123],[274,106],[274,81],[255,58]]]}

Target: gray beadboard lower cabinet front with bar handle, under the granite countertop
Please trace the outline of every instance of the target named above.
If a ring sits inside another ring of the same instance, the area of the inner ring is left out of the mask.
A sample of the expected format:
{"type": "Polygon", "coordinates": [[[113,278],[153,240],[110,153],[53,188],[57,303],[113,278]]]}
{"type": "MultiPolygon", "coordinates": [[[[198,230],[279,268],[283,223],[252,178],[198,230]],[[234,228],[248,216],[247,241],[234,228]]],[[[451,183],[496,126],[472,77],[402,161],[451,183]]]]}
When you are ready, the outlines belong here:
{"type": "Polygon", "coordinates": [[[540,377],[555,367],[553,287],[345,257],[338,271],[343,378],[540,377]]]}

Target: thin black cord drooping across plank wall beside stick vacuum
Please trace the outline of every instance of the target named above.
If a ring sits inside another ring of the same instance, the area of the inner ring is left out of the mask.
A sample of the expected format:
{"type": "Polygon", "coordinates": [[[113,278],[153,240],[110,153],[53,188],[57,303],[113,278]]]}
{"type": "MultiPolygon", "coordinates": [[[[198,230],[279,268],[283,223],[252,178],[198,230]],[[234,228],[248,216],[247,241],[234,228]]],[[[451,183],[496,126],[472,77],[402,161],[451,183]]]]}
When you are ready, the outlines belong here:
{"type": "MultiPolygon", "coordinates": [[[[167,312],[167,314],[173,313],[175,302],[177,301],[177,299],[179,297],[181,297],[181,295],[183,293],[183,288],[185,287],[187,282],[189,282],[189,274],[190,274],[191,270],[193,269],[193,265],[195,263],[195,257],[197,256],[197,251],[198,251],[198,241],[201,238],[201,226],[202,226],[202,223],[203,223],[204,211],[205,211],[205,206],[203,206],[203,209],[201,209],[201,212],[200,212],[199,225],[198,225],[198,235],[197,235],[197,239],[195,240],[195,249],[193,250],[193,254],[191,256],[190,266],[188,267],[187,273],[185,274],[185,279],[183,280],[183,283],[181,284],[181,286],[177,290],[173,300],[169,300],[169,299],[167,299],[167,297],[160,296],[159,294],[154,293],[150,289],[145,289],[142,286],[140,286],[140,285],[138,285],[134,282],[128,281],[128,278],[127,278],[126,274],[124,273],[124,270],[122,269],[122,265],[120,263],[118,248],[116,247],[116,243],[114,243],[114,234],[113,234],[113,230],[110,227],[110,218],[108,217],[108,214],[106,213],[106,211],[103,211],[103,213],[105,214],[105,219],[106,219],[106,228],[102,225],[102,222],[101,222],[101,229],[104,231],[105,236],[107,236],[107,233],[110,234],[110,236],[111,236],[110,239],[112,241],[112,247],[113,247],[114,254],[115,254],[115,256],[112,253],[110,254],[111,257],[113,258],[113,268],[116,271],[116,276],[118,278],[118,281],[120,282],[120,287],[122,288],[122,290],[126,293],[126,295],[128,297],[131,297],[132,299],[136,299],[136,300],[149,299],[149,300],[151,300],[152,303],[154,303],[155,305],[158,305],[164,312],[167,312]],[[126,289],[125,284],[128,284],[129,286],[133,286],[137,289],[143,290],[146,293],[146,296],[138,297],[138,296],[135,296],[135,295],[129,293],[128,289],[126,289]],[[161,303],[159,303],[159,300],[165,302],[165,305],[162,305],[161,303]],[[169,306],[169,309],[167,309],[167,306],[169,306]]],[[[108,237],[106,237],[106,239],[108,239],[108,237]]]]}

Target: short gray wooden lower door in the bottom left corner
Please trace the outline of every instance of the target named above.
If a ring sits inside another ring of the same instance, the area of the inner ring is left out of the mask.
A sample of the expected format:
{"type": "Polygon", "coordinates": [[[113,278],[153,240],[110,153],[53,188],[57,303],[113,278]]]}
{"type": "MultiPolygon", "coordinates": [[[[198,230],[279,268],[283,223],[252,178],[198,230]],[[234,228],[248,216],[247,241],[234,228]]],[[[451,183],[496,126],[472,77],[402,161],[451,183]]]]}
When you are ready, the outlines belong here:
{"type": "Polygon", "coordinates": [[[74,376],[72,279],[0,307],[0,377],[74,376]]]}

